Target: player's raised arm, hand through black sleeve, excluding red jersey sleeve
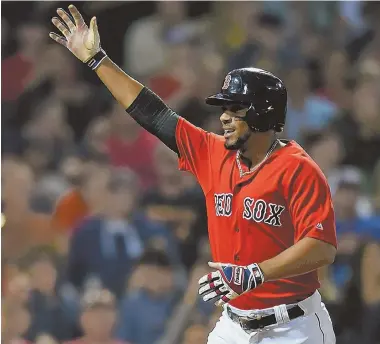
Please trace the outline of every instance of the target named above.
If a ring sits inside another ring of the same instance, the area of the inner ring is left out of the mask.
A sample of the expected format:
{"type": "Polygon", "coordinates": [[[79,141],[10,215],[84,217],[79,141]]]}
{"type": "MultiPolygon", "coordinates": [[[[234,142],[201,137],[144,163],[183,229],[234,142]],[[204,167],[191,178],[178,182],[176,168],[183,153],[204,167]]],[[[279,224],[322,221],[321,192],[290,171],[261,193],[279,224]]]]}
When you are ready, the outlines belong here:
{"type": "Polygon", "coordinates": [[[70,5],[69,11],[74,21],[63,9],[57,10],[60,19],[52,19],[63,37],[55,33],[50,33],[50,37],[95,70],[115,99],[143,128],[179,153],[175,139],[179,116],[152,91],[124,73],[107,57],[100,47],[95,17],[87,27],[75,6],[70,5]]]}

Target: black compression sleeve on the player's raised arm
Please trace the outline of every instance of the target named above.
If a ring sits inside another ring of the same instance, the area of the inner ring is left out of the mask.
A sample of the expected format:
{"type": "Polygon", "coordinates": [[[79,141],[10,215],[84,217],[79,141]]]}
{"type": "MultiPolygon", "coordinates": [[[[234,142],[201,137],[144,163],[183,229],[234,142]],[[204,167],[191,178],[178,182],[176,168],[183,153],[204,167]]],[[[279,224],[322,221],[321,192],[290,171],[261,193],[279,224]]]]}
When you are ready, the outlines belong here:
{"type": "Polygon", "coordinates": [[[144,87],[125,111],[144,129],[179,154],[175,139],[179,116],[151,90],[144,87]]]}

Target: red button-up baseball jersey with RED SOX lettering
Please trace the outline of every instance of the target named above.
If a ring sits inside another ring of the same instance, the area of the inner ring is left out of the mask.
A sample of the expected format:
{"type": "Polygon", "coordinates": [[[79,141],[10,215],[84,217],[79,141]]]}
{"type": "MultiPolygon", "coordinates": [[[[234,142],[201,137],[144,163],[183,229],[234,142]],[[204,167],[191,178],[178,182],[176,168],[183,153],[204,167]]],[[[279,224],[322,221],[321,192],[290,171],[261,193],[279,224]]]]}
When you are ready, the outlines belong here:
{"type": "MultiPolygon", "coordinates": [[[[214,262],[248,265],[273,258],[305,237],[336,247],[335,218],[326,178],[296,142],[240,176],[237,152],[224,137],[180,119],[179,167],[191,172],[206,197],[214,262]]],[[[263,309],[302,300],[319,288],[317,271],[265,282],[232,300],[239,309],[263,309]]]]}

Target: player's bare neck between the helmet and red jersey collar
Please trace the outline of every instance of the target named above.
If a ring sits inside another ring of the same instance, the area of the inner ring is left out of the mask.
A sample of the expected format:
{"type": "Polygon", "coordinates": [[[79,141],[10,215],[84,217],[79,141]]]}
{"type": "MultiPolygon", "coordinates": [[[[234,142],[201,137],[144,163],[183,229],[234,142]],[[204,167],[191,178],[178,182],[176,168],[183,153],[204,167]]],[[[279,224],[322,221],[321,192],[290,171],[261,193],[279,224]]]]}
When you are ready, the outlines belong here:
{"type": "Polygon", "coordinates": [[[248,139],[246,147],[242,150],[242,156],[251,162],[251,167],[264,160],[276,136],[272,132],[254,133],[248,139]]]}

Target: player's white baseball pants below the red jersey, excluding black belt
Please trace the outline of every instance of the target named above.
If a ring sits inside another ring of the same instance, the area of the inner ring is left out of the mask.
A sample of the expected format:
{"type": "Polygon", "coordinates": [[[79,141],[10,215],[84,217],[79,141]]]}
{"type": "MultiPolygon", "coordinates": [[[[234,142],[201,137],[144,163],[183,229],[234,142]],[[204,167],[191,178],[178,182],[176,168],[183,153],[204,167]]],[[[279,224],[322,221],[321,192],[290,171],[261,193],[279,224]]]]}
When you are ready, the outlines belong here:
{"type": "MultiPolygon", "coordinates": [[[[305,315],[287,323],[268,326],[255,332],[245,332],[224,310],[207,344],[335,344],[330,315],[316,291],[298,303],[305,315]]],[[[240,316],[273,314],[274,309],[242,311],[231,307],[240,316]]]]}

